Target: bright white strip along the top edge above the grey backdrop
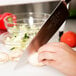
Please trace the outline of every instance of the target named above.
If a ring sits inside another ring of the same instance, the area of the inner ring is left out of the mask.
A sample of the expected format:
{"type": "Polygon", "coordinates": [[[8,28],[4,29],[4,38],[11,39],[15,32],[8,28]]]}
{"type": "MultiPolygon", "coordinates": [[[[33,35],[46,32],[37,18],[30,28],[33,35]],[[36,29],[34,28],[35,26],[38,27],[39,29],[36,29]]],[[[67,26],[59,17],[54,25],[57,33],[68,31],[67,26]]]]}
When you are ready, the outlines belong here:
{"type": "Polygon", "coordinates": [[[0,6],[35,3],[35,2],[46,2],[46,1],[58,1],[58,0],[0,0],[0,6]]]}

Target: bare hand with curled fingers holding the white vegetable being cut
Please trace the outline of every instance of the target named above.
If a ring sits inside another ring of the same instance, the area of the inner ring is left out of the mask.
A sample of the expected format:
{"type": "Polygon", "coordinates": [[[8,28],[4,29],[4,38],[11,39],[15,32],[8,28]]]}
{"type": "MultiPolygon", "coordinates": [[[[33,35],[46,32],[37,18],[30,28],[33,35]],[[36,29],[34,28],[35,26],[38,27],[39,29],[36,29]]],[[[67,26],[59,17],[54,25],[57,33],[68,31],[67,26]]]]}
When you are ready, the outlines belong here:
{"type": "Polygon", "coordinates": [[[64,43],[47,43],[39,50],[39,61],[68,76],[76,76],[76,52],[64,43]]]}

